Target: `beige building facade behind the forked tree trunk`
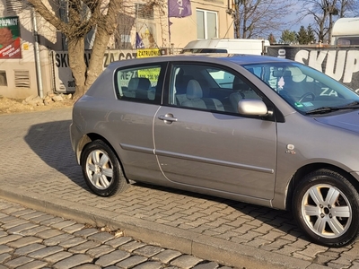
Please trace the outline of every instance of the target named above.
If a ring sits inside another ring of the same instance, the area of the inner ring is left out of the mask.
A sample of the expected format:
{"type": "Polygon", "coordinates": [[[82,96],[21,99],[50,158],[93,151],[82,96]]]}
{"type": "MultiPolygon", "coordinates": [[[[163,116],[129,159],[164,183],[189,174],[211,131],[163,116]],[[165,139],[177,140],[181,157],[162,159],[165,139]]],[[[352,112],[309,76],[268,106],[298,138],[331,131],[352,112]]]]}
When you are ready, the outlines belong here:
{"type": "MultiPolygon", "coordinates": [[[[64,16],[66,9],[58,9],[58,3],[64,4],[66,0],[57,1],[43,2],[64,16]]],[[[160,48],[168,54],[178,53],[194,39],[233,38],[232,17],[226,13],[228,3],[228,0],[128,1],[118,12],[118,27],[109,42],[103,66],[112,60],[136,57],[136,37],[142,48],[160,48]],[[180,12],[186,4],[189,10],[186,16],[181,13],[169,17],[169,4],[180,12]]],[[[86,53],[91,54],[94,34],[92,31],[86,37],[85,47],[89,49],[86,53]]],[[[0,0],[0,96],[23,99],[43,97],[54,91],[71,92],[74,83],[69,75],[66,37],[35,13],[27,1],[0,0]]]]}

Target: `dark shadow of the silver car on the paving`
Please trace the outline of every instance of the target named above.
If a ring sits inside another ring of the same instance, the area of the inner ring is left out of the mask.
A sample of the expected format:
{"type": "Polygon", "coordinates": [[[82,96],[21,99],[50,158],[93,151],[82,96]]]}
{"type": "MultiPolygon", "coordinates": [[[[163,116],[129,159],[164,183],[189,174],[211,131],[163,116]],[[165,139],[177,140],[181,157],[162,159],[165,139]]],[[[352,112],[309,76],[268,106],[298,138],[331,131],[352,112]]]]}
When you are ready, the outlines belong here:
{"type": "MultiPolygon", "coordinates": [[[[70,124],[71,120],[63,120],[33,125],[29,129],[28,134],[25,135],[24,139],[25,142],[30,145],[31,150],[35,152],[42,161],[48,164],[48,166],[56,169],[59,173],[65,175],[87,192],[91,192],[83,180],[81,167],[77,165],[75,161],[74,152],[70,142],[70,124]]],[[[303,233],[296,226],[292,214],[289,212],[253,204],[245,204],[210,195],[201,195],[170,187],[159,187],[144,183],[134,183],[134,186],[226,204],[234,210],[243,213],[246,218],[262,221],[262,226],[269,225],[270,227],[281,230],[293,237],[304,239],[303,233]]],[[[253,226],[253,230],[256,228],[258,227],[253,226]]],[[[267,229],[270,230],[270,228],[267,229]]]]}

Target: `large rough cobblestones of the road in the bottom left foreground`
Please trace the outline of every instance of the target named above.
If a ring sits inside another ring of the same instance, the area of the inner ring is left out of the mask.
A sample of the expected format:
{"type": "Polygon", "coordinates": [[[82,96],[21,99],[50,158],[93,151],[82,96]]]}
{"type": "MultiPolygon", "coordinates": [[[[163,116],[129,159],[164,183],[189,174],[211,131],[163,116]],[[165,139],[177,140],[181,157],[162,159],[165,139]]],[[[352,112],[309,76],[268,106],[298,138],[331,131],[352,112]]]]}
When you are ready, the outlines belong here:
{"type": "Polygon", "coordinates": [[[231,269],[0,199],[2,268],[231,269]]]}

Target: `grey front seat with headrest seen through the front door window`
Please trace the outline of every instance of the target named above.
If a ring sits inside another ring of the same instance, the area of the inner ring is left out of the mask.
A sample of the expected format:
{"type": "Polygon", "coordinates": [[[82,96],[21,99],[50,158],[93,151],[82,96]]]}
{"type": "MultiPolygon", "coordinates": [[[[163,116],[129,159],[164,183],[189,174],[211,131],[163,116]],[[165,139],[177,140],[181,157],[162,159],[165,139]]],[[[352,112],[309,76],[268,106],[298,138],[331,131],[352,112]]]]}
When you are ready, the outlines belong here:
{"type": "Polygon", "coordinates": [[[224,111],[223,103],[215,98],[203,98],[202,87],[196,80],[190,80],[187,85],[186,97],[182,103],[184,107],[206,108],[210,110],[224,111]]]}

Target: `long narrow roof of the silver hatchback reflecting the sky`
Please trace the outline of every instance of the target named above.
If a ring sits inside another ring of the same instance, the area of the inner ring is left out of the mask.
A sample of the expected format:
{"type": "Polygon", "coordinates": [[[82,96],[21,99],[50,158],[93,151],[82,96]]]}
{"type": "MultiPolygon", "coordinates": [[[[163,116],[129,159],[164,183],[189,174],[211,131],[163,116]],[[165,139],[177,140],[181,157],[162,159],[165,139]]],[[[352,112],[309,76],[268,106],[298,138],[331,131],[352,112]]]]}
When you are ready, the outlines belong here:
{"type": "Polygon", "coordinates": [[[226,53],[215,53],[215,54],[186,54],[186,55],[171,55],[171,56],[155,56],[155,57],[144,57],[128,60],[120,60],[109,64],[108,68],[117,68],[118,64],[121,65],[138,65],[147,64],[153,62],[168,62],[168,61],[194,61],[194,62],[213,62],[223,63],[232,62],[237,65],[248,65],[248,64],[265,64],[273,62],[292,62],[285,58],[279,58],[275,56],[258,56],[258,55],[238,55],[238,54],[226,54],[226,53]]]}

